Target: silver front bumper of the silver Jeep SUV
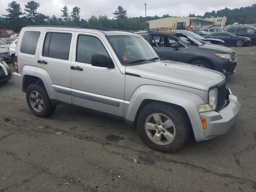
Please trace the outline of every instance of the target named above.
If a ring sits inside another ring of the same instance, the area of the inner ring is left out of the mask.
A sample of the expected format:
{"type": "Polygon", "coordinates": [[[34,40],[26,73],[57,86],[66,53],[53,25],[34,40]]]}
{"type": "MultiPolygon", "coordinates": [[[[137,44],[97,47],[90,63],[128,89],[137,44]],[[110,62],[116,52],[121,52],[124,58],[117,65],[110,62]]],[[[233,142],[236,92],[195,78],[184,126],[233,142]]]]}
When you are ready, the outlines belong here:
{"type": "Polygon", "coordinates": [[[205,138],[208,140],[214,138],[218,135],[225,134],[228,132],[230,127],[234,124],[236,116],[240,111],[240,103],[237,100],[237,97],[230,94],[229,104],[222,110],[216,112],[205,112],[200,113],[200,117],[206,119],[206,129],[204,130],[205,138]]]}

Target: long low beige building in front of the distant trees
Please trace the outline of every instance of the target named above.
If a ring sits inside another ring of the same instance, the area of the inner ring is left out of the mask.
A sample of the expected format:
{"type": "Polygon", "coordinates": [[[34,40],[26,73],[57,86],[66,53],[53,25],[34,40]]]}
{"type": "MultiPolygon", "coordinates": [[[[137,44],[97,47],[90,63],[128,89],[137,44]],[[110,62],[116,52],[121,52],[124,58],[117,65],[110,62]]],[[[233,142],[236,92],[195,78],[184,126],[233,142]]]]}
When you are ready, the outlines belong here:
{"type": "Polygon", "coordinates": [[[198,17],[167,17],[162,19],[156,19],[147,21],[149,23],[149,28],[166,28],[166,27],[176,27],[177,23],[185,22],[186,27],[189,27],[191,25],[201,25],[201,26],[207,26],[207,25],[213,25],[214,21],[202,19],[198,17]]]}

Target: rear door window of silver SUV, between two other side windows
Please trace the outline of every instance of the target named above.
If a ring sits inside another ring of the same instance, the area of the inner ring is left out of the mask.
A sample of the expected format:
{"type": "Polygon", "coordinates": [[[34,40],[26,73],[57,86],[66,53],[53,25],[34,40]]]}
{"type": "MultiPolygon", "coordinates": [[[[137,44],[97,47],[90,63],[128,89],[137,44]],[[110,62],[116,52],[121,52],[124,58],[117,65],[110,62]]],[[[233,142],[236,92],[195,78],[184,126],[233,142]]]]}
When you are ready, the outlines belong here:
{"type": "Polygon", "coordinates": [[[46,33],[43,56],[68,60],[72,34],[46,33]]]}

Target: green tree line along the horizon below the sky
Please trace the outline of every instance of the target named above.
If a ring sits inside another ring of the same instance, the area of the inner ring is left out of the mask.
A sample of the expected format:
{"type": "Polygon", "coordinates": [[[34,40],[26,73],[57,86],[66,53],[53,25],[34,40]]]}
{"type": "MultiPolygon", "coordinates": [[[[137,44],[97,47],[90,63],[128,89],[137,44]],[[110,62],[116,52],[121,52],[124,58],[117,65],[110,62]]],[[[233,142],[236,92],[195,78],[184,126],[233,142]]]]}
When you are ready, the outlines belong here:
{"type": "MultiPolygon", "coordinates": [[[[25,5],[24,11],[22,10],[19,3],[12,1],[8,3],[6,11],[8,14],[2,15],[0,17],[0,28],[12,29],[15,32],[19,32],[22,27],[26,25],[60,25],[60,26],[81,26],[81,27],[108,27],[123,30],[144,30],[148,28],[146,21],[172,17],[169,14],[163,16],[147,16],[147,17],[127,17],[127,11],[122,7],[114,11],[114,18],[109,18],[106,15],[95,16],[92,15],[88,19],[80,17],[81,9],[78,6],[72,8],[69,11],[67,6],[60,9],[62,16],[57,17],[55,15],[46,16],[38,12],[40,4],[34,0],[29,1],[25,5]]],[[[218,10],[217,12],[206,12],[204,16],[189,14],[189,17],[200,17],[200,18],[210,18],[211,16],[226,16],[227,23],[233,24],[234,22],[239,22],[240,24],[252,24],[256,23],[256,4],[248,7],[241,7],[235,9],[224,8],[218,10]]]]}

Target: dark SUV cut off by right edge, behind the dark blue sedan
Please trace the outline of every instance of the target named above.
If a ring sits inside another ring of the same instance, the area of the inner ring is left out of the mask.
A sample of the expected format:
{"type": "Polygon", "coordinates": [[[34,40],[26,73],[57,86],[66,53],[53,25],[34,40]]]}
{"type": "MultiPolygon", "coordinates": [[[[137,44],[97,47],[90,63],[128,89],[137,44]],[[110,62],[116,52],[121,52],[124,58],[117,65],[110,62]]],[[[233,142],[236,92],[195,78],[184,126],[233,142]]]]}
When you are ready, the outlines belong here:
{"type": "Polygon", "coordinates": [[[252,40],[252,43],[256,43],[256,29],[253,27],[241,27],[241,28],[229,28],[227,32],[236,36],[248,37],[252,40]]]}

